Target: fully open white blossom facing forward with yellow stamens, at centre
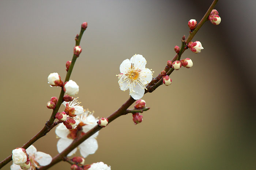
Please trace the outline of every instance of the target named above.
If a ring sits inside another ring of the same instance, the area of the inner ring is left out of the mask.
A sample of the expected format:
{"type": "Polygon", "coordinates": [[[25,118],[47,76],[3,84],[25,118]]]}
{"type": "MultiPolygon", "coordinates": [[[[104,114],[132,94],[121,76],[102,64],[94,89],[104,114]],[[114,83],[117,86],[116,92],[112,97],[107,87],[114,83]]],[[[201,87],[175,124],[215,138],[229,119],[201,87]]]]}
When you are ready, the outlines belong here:
{"type": "Polygon", "coordinates": [[[121,76],[118,80],[120,89],[125,91],[129,88],[130,95],[133,99],[138,100],[144,95],[146,84],[152,80],[152,71],[145,68],[146,59],[139,54],[135,54],[132,58],[126,59],[120,65],[121,76]]]}

